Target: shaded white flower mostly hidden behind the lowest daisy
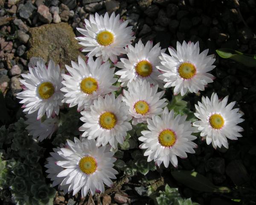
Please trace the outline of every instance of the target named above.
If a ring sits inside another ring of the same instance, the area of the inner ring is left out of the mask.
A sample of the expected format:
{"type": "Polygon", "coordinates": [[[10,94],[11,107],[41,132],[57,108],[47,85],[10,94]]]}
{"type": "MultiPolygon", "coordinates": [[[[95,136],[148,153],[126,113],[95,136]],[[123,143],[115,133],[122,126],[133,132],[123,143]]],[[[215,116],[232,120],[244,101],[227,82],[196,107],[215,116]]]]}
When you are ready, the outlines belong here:
{"type": "MultiPolygon", "coordinates": [[[[66,143],[65,146],[63,146],[63,144],[61,144],[61,147],[68,148],[68,145],[67,145],[67,143],[66,143]]],[[[60,147],[53,148],[53,151],[54,152],[50,152],[51,157],[48,157],[46,159],[48,164],[44,165],[44,167],[47,167],[47,170],[45,172],[49,173],[47,175],[47,178],[50,178],[53,181],[52,182],[52,187],[55,187],[55,186],[58,185],[58,189],[63,190],[64,194],[70,193],[70,191],[68,191],[69,185],[61,185],[61,182],[65,179],[65,177],[64,176],[63,177],[58,177],[57,176],[58,173],[65,170],[63,167],[58,166],[57,162],[61,161],[61,160],[64,161],[66,159],[58,154],[58,152],[61,151],[60,147]]]]}

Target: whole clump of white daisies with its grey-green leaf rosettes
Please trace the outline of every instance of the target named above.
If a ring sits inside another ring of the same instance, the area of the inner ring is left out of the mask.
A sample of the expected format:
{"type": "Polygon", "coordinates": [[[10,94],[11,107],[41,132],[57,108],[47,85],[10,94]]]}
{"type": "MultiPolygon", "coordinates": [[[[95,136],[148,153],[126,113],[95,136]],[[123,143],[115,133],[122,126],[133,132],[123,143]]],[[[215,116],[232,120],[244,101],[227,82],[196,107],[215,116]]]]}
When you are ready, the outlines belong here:
{"type": "MultiPolygon", "coordinates": [[[[126,164],[118,159],[115,166],[130,176],[136,172],[146,175],[156,169],[155,164],[169,167],[171,162],[177,167],[177,156],[186,158],[187,153],[195,153],[194,132],[201,132],[207,144],[212,143],[214,148],[222,145],[228,148],[227,138],[241,137],[242,128],[236,124],[243,119],[238,109],[232,110],[235,102],[227,105],[227,97],[221,102],[214,93],[211,100],[203,97],[202,103],[195,105],[199,121],[193,123],[194,127],[184,115],[192,113],[186,101],[179,98],[177,105],[175,100],[170,103],[163,98],[165,92],[160,89],[174,87],[175,95],[184,96],[187,92],[204,90],[213,81],[213,75],[208,72],[214,69],[215,58],[207,55],[208,50],[200,53],[198,42],[184,41],[182,45],[177,42],[177,50],[169,48],[169,56],[160,43],[153,46],[148,41],[144,45],[139,40],[132,46],[135,37],[131,27],[127,27],[128,21],[120,21],[114,13],[111,17],[108,13],[104,17],[90,15],[85,23],[84,29],[77,28],[83,36],[76,39],[84,46],[83,52],[88,52],[88,58],[79,56],[78,63],[72,61],[72,66],[66,65],[66,74],[53,61],[49,61],[48,69],[40,63],[34,69],[29,68],[29,74],[22,75],[24,80],[21,80],[25,90],[17,95],[24,104],[27,125],[24,120],[19,121],[12,135],[3,127],[0,129],[0,146],[9,144],[16,151],[9,153],[9,158],[22,159],[15,161],[9,180],[15,202],[25,204],[23,196],[29,193],[29,203],[44,203],[54,192],[45,184],[38,162],[44,149],[32,136],[38,141],[55,136],[52,144],[57,148],[47,158],[47,177],[64,193],[75,195],[81,191],[82,197],[88,191],[104,192],[104,186],[111,186],[111,179],[116,179],[118,172],[113,169],[116,158],[112,150],[118,156],[123,154],[121,150],[134,149],[132,159],[126,164]],[[117,62],[121,53],[127,54],[127,58],[117,62]],[[117,95],[121,92],[120,83],[123,96],[117,95]],[[77,106],[81,113],[68,109],[56,117],[62,103],[77,106]],[[27,135],[25,127],[32,136],[27,135]],[[4,141],[6,133],[10,137],[4,141]],[[79,134],[80,139],[75,137],[79,134]],[[139,142],[142,150],[136,150],[139,142]]],[[[7,192],[2,193],[8,196],[7,192]]],[[[173,202],[167,195],[157,201],[173,202]]],[[[184,201],[187,202],[191,200],[184,201]]]]}

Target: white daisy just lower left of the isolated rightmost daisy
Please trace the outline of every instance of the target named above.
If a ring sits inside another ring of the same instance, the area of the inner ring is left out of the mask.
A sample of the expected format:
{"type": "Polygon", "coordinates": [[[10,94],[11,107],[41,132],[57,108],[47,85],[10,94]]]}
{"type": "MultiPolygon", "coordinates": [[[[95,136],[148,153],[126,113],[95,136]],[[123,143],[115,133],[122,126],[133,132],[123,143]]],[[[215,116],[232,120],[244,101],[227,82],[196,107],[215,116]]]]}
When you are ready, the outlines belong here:
{"type": "Polygon", "coordinates": [[[165,167],[171,162],[177,167],[177,156],[186,158],[186,152],[195,153],[193,148],[197,145],[192,140],[196,136],[191,135],[195,129],[191,121],[186,121],[186,115],[174,117],[174,111],[169,113],[165,107],[161,118],[155,115],[147,122],[149,131],[142,131],[139,140],[143,141],[140,148],[147,149],[144,156],[148,156],[148,162],[154,160],[158,166],[163,162],[165,167]]]}

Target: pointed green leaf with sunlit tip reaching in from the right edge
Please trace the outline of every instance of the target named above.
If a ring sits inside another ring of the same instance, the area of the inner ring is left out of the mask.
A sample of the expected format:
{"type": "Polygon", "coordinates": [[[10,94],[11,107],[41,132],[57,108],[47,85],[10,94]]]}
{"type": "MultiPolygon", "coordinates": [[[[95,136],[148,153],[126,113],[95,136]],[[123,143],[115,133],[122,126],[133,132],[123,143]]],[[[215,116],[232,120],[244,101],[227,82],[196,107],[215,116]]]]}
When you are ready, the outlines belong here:
{"type": "Polygon", "coordinates": [[[217,49],[216,52],[221,58],[230,58],[236,62],[244,64],[245,66],[256,67],[255,55],[244,55],[239,51],[226,48],[217,49]]]}

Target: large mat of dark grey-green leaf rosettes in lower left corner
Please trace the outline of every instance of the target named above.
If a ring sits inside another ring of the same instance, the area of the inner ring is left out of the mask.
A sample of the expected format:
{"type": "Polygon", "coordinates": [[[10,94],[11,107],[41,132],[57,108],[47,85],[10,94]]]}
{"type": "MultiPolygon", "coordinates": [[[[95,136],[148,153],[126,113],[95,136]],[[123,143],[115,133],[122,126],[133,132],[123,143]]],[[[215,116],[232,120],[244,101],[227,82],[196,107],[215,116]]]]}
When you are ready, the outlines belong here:
{"type": "Polygon", "coordinates": [[[0,136],[9,136],[9,141],[3,141],[3,145],[7,144],[3,150],[6,161],[0,161],[0,197],[6,202],[12,199],[17,205],[52,205],[55,189],[46,184],[39,163],[45,149],[25,128],[20,119],[8,129],[0,129],[0,136]]]}

